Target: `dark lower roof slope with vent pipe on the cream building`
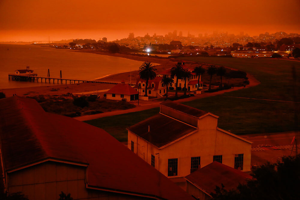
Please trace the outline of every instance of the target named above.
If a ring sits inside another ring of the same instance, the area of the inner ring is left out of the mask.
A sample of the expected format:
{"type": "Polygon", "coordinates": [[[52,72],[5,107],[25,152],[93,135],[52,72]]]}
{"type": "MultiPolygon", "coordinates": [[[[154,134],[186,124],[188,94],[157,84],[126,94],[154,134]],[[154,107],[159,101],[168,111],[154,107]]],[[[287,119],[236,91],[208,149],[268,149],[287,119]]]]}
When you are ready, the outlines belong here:
{"type": "Polygon", "coordinates": [[[128,130],[160,148],[197,129],[159,113],[134,124],[128,130]]]}

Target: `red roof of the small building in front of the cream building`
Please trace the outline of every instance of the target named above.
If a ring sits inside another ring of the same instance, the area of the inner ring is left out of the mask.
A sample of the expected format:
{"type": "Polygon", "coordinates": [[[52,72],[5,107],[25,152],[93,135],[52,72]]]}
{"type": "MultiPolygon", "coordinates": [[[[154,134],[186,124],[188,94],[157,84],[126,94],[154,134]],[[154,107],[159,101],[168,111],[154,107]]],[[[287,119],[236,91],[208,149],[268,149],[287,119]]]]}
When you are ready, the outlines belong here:
{"type": "Polygon", "coordinates": [[[235,189],[239,183],[246,184],[246,180],[252,179],[252,176],[214,161],[185,178],[210,194],[215,192],[216,186],[221,187],[221,184],[226,190],[235,189]]]}

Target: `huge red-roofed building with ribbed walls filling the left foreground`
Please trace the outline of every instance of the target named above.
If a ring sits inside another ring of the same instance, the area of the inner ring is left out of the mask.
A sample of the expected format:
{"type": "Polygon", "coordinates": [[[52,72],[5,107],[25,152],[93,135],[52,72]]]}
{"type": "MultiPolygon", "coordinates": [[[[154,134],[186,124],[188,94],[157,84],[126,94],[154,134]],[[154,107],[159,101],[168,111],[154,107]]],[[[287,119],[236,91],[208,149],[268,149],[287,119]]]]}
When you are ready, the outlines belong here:
{"type": "Polygon", "coordinates": [[[0,99],[2,179],[28,199],[193,199],[109,133],[45,112],[33,99],[0,99]]]}

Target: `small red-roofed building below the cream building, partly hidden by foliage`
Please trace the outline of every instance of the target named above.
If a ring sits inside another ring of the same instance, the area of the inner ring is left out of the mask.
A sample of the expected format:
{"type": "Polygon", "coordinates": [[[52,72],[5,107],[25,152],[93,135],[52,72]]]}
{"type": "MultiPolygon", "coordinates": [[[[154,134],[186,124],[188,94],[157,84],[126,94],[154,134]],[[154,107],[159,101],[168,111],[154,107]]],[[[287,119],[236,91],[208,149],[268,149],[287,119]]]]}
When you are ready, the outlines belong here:
{"type": "Polygon", "coordinates": [[[239,184],[247,184],[247,180],[253,177],[245,172],[226,166],[216,161],[196,170],[184,177],[186,191],[196,199],[211,199],[211,193],[215,193],[216,186],[225,190],[235,190],[239,184]]]}

